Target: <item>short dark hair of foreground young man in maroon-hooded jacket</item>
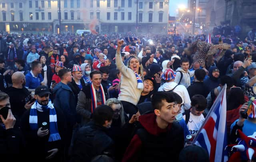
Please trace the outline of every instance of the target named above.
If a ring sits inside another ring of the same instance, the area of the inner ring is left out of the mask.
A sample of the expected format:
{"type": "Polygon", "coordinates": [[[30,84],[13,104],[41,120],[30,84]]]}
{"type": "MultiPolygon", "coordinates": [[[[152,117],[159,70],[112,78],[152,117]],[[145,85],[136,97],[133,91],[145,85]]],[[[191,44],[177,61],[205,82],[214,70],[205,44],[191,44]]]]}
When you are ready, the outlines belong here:
{"type": "Polygon", "coordinates": [[[151,99],[153,109],[161,110],[163,101],[175,102],[175,97],[170,92],[156,92],[151,99]]]}

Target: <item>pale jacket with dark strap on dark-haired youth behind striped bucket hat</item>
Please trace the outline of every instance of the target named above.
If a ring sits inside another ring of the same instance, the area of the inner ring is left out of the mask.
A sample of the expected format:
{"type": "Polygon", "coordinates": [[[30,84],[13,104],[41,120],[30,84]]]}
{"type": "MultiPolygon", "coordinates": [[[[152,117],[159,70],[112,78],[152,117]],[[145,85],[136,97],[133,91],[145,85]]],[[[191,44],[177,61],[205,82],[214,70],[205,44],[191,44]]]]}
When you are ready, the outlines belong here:
{"type": "Polygon", "coordinates": [[[180,82],[181,85],[188,88],[188,86],[190,86],[190,77],[194,76],[194,72],[195,71],[189,71],[189,70],[185,72],[185,70],[183,70],[182,68],[177,68],[174,82],[176,82],[177,84],[180,82]],[[180,78],[181,78],[180,72],[182,72],[183,74],[181,81],[180,81],[180,78]]]}

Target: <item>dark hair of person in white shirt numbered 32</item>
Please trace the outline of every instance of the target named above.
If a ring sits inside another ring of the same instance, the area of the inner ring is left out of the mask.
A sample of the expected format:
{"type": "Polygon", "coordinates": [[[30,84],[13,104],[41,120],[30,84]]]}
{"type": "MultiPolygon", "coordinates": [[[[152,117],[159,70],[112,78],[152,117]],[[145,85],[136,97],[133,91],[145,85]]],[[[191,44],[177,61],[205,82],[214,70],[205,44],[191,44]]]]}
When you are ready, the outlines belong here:
{"type": "Polygon", "coordinates": [[[195,106],[196,111],[203,111],[206,108],[207,100],[204,96],[197,94],[191,98],[191,105],[195,106]]]}

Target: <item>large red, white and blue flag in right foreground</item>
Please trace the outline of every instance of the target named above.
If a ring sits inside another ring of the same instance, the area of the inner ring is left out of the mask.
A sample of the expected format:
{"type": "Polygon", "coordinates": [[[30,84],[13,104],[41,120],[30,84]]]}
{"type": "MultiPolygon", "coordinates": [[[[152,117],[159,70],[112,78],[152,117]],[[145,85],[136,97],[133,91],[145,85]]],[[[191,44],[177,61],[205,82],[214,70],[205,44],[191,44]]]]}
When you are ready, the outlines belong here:
{"type": "Polygon", "coordinates": [[[193,144],[204,148],[210,157],[210,162],[228,161],[227,129],[226,129],[226,85],[222,88],[210,109],[193,144]]]}

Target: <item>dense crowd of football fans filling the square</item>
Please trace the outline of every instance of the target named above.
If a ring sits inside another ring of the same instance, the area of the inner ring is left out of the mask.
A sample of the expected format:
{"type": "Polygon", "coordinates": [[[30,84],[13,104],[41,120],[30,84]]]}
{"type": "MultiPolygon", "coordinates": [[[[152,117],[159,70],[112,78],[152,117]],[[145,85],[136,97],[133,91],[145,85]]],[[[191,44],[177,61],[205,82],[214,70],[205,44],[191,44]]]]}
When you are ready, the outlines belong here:
{"type": "Polygon", "coordinates": [[[0,33],[1,159],[207,162],[187,136],[225,84],[228,143],[256,131],[256,107],[243,113],[256,97],[255,43],[0,33]]]}

